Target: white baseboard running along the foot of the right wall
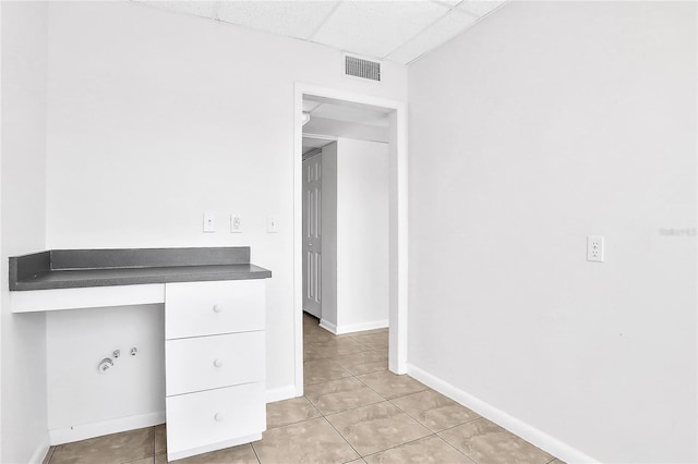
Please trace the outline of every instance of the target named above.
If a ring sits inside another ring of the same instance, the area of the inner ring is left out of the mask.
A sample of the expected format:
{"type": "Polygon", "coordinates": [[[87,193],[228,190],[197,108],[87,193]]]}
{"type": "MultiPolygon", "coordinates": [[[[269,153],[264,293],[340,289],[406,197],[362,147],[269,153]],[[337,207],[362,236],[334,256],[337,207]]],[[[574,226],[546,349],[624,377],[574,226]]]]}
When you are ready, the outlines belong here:
{"type": "Polygon", "coordinates": [[[425,370],[420,369],[411,364],[407,365],[407,374],[428,387],[436,390],[440,393],[445,394],[452,400],[462,404],[464,406],[474,411],[482,417],[492,420],[493,423],[504,427],[512,434],[521,437],[524,440],[533,443],[541,450],[558,457],[569,464],[582,464],[582,463],[599,463],[599,460],[588,456],[576,448],[564,443],[556,438],[532,427],[514,416],[508,415],[502,410],[494,407],[493,405],[485,403],[484,401],[466,393],[465,391],[456,388],[455,386],[429,374],[425,370]]]}

